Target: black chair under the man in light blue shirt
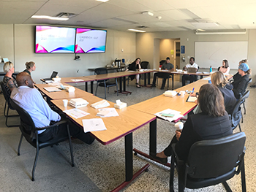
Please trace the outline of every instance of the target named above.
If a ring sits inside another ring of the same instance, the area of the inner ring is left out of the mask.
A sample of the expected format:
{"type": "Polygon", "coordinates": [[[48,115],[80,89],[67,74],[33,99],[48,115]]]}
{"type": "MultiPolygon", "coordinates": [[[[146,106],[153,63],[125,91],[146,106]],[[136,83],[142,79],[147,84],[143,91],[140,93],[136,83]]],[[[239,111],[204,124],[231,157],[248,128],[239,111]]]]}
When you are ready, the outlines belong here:
{"type": "Polygon", "coordinates": [[[12,107],[14,107],[15,110],[17,110],[18,114],[20,115],[21,136],[20,136],[20,142],[19,142],[19,145],[18,145],[18,155],[20,155],[20,145],[21,145],[23,137],[25,137],[25,139],[27,140],[27,142],[29,142],[30,145],[32,145],[33,147],[35,147],[37,149],[36,157],[34,159],[34,166],[33,166],[33,170],[32,170],[32,177],[31,177],[32,181],[34,181],[34,171],[35,171],[36,166],[37,166],[37,159],[38,159],[38,155],[39,155],[39,150],[44,148],[44,147],[58,145],[59,142],[64,142],[67,139],[69,139],[69,148],[70,148],[70,155],[71,155],[71,166],[75,166],[74,157],[73,157],[73,150],[72,150],[72,143],[71,143],[71,138],[70,138],[70,134],[69,134],[69,125],[68,125],[67,121],[61,120],[57,123],[54,123],[52,126],[36,128],[34,126],[34,121],[31,119],[31,116],[29,115],[28,112],[26,112],[26,110],[23,110],[23,108],[18,106],[18,104],[15,104],[15,102],[12,101],[12,99],[10,99],[10,103],[12,104],[12,107]],[[67,137],[57,138],[57,139],[53,138],[48,142],[39,142],[39,140],[38,140],[38,131],[39,130],[59,126],[61,124],[66,124],[67,125],[67,133],[68,133],[67,137]]]}

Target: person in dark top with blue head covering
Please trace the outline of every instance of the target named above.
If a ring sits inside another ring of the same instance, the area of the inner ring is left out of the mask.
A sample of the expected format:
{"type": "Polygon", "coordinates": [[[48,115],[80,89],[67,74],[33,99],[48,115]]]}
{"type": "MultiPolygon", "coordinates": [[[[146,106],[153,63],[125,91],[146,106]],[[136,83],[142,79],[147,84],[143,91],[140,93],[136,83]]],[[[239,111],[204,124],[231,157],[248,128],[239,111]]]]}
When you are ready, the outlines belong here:
{"type": "Polygon", "coordinates": [[[249,66],[245,63],[241,63],[238,67],[238,74],[241,75],[241,78],[234,79],[232,82],[233,92],[236,96],[236,99],[240,99],[240,97],[245,92],[245,85],[249,81],[249,74],[251,74],[252,70],[249,69],[249,66]]]}

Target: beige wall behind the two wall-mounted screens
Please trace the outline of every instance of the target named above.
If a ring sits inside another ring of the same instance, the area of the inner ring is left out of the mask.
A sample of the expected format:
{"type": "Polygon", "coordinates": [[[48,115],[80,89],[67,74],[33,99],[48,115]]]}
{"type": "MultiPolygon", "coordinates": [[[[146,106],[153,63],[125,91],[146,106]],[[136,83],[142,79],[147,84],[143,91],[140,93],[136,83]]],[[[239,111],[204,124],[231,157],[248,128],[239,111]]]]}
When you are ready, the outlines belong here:
{"type": "Polygon", "coordinates": [[[31,76],[37,83],[40,78],[49,77],[53,70],[60,77],[79,77],[90,75],[88,68],[112,64],[115,58],[135,60],[135,33],[132,32],[108,30],[105,53],[78,54],[80,61],[75,61],[74,53],[35,54],[34,31],[34,25],[0,25],[0,55],[14,62],[18,72],[25,69],[26,61],[34,61],[37,69],[31,76]]]}

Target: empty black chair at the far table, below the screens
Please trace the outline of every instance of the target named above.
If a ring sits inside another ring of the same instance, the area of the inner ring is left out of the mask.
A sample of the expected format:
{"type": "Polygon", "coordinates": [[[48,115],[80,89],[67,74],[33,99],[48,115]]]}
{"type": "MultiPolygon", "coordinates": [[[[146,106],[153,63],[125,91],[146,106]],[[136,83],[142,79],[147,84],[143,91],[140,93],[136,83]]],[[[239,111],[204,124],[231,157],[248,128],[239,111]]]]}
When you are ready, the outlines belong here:
{"type": "MultiPolygon", "coordinates": [[[[97,68],[94,70],[95,74],[108,74],[108,70],[106,68],[97,68]]],[[[104,87],[105,88],[105,99],[106,99],[106,88],[108,88],[108,93],[109,93],[109,88],[116,86],[116,93],[118,96],[118,83],[117,83],[117,78],[115,79],[116,82],[110,82],[110,80],[98,80],[97,81],[97,87],[96,87],[96,91],[95,91],[95,96],[97,96],[97,89],[98,86],[99,87],[104,87]]]]}

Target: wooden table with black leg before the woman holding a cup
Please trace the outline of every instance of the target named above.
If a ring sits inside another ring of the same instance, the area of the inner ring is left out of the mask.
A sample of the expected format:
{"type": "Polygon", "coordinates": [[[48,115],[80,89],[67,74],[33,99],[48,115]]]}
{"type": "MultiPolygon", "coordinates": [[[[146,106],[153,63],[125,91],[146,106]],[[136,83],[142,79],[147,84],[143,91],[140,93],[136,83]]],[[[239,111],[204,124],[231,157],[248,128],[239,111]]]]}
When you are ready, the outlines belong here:
{"type": "MultiPolygon", "coordinates": [[[[206,83],[208,83],[208,80],[204,80],[204,79],[197,80],[196,82],[192,82],[189,85],[185,85],[181,88],[176,89],[175,91],[177,92],[192,91],[193,88],[195,88],[194,91],[198,92],[200,87],[206,83]]],[[[168,97],[162,94],[160,96],[156,96],[146,101],[142,101],[138,104],[133,104],[128,108],[132,108],[140,112],[145,112],[150,115],[154,115],[157,112],[161,112],[167,109],[181,112],[181,115],[187,115],[187,113],[194,110],[194,108],[197,106],[195,102],[187,102],[188,96],[189,94],[187,93],[184,95],[184,97],[181,97],[178,95],[174,97],[168,97]]],[[[150,132],[149,132],[149,155],[150,155],[150,154],[157,153],[157,120],[153,120],[150,123],[149,128],[150,128],[150,132]]],[[[148,154],[143,153],[140,150],[134,149],[134,151],[135,151],[135,154],[138,153],[140,155],[145,156],[146,158],[152,159],[148,154]]],[[[170,166],[170,164],[167,164],[167,165],[170,166]]]]}

